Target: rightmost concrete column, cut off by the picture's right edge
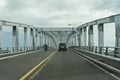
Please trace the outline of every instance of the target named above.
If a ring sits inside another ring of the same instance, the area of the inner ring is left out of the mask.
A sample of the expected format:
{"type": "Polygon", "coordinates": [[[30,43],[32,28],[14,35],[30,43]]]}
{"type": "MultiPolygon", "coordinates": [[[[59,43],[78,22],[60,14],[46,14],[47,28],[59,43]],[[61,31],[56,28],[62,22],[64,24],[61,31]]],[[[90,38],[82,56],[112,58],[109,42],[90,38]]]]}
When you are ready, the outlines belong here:
{"type": "Polygon", "coordinates": [[[116,28],[116,41],[115,41],[115,47],[120,48],[120,16],[115,16],[115,28],[116,28]]]}

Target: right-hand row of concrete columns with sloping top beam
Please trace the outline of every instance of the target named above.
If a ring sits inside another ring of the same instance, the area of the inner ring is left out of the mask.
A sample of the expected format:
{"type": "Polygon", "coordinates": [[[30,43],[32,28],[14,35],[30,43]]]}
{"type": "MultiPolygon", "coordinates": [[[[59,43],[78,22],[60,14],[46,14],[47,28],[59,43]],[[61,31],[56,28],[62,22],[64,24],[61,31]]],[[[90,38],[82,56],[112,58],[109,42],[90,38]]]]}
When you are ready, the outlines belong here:
{"type": "Polygon", "coordinates": [[[94,46],[94,25],[98,28],[98,46],[104,46],[104,24],[115,23],[115,47],[120,47],[120,14],[97,19],[77,27],[77,36],[79,46],[94,46]],[[88,45],[87,45],[87,27],[88,27],[88,45]],[[82,41],[83,36],[83,41],[82,41]]]}

